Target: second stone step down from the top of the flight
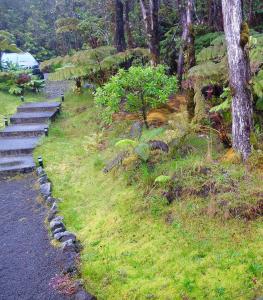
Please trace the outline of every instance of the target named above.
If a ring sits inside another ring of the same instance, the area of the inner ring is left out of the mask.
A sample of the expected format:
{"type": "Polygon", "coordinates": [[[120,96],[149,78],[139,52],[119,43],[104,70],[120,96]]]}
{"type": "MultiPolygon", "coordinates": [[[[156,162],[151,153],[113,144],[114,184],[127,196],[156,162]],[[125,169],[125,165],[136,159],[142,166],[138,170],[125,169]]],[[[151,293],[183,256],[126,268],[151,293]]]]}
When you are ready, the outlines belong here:
{"type": "Polygon", "coordinates": [[[57,111],[46,112],[19,112],[10,118],[11,124],[47,123],[54,120],[57,111]]]}

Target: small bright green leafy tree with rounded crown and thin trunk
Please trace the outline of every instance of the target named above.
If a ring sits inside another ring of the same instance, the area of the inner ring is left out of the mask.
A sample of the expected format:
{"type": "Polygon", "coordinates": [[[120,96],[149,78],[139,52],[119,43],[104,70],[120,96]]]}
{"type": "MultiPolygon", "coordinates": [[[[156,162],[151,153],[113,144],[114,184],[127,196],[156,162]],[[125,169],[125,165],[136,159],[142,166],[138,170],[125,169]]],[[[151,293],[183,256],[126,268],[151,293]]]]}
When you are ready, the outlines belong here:
{"type": "Polygon", "coordinates": [[[164,66],[131,67],[120,70],[107,84],[99,88],[95,95],[96,103],[106,107],[103,110],[105,121],[111,121],[114,112],[125,105],[128,112],[140,112],[146,128],[147,112],[167,102],[168,97],[177,91],[177,80],[165,74],[164,66]]]}

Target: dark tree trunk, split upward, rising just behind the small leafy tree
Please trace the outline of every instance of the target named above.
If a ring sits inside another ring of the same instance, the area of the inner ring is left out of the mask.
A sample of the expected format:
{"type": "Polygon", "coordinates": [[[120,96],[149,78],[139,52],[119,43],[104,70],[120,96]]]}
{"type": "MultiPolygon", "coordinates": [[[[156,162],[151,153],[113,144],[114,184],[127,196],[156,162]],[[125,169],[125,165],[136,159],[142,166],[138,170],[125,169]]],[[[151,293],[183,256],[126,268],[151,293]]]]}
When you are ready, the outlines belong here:
{"type": "Polygon", "coordinates": [[[140,0],[143,21],[151,53],[151,64],[157,66],[160,61],[159,39],[159,0],[140,0]]]}

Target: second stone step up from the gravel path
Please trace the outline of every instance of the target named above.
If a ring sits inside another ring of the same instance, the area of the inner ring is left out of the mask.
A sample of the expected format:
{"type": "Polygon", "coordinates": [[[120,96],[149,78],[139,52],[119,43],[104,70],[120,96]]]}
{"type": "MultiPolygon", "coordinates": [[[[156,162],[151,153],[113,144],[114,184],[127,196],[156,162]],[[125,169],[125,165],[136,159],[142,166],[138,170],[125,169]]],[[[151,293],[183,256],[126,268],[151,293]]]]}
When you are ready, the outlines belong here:
{"type": "Polygon", "coordinates": [[[39,138],[0,138],[0,157],[32,154],[39,138]]]}

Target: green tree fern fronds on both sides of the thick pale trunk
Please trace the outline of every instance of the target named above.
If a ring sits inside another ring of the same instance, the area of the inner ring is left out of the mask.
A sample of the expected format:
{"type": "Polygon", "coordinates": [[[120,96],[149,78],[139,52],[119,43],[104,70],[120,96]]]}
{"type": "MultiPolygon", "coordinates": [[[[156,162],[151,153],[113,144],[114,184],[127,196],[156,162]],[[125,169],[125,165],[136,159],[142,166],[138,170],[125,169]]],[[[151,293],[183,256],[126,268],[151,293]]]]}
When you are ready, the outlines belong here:
{"type": "MultiPolygon", "coordinates": [[[[257,108],[262,107],[263,97],[263,34],[252,31],[249,42],[249,56],[251,70],[253,74],[253,91],[258,98],[257,108]]],[[[201,89],[208,84],[228,84],[228,68],[226,57],[226,43],[223,34],[214,39],[210,45],[202,49],[197,55],[198,65],[191,68],[187,74],[185,87],[195,90],[196,119],[202,120],[205,116],[204,97],[201,89]]],[[[227,99],[223,103],[211,109],[211,112],[229,110],[231,100],[227,99]]]]}

